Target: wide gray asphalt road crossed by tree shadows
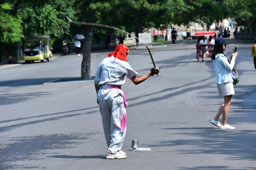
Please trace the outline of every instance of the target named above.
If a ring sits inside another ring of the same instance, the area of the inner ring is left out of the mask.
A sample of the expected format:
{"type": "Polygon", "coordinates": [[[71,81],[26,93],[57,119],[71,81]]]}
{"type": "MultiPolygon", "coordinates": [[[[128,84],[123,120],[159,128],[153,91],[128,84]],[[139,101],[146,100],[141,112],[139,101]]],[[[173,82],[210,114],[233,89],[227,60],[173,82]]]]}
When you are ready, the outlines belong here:
{"type": "MultiPolygon", "coordinates": [[[[127,80],[128,130],[122,150],[127,159],[106,160],[108,153],[94,84],[46,84],[79,77],[75,54],[50,62],[0,69],[0,170],[256,170],[256,70],[249,43],[238,46],[235,86],[228,123],[210,124],[223,98],[210,58],[197,62],[194,44],[152,49],[160,76],[140,85],[127,80]],[[131,152],[132,139],[152,151],[131,152]]],[[[92,51],[91,75],[109,51],[92,51]]],[[[130,65],[143,76],[152,63],[146,48],[130,49],[130,65]]],[[[221,121],[221,120],[220,120],[221,121]]]]}

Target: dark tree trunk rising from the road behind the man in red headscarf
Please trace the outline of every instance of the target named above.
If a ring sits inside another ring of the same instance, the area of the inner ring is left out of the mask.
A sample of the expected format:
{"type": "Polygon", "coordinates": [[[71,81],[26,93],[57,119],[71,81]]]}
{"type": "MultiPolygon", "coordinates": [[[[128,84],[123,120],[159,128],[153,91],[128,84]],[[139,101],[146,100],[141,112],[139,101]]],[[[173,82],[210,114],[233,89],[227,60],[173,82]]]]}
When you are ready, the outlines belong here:
{"type": "Polygon", "coordinates": [[[93,26],[85,26],[85,39],[82,45],[81,79],[91,79],[91,44],[93,26]]]}

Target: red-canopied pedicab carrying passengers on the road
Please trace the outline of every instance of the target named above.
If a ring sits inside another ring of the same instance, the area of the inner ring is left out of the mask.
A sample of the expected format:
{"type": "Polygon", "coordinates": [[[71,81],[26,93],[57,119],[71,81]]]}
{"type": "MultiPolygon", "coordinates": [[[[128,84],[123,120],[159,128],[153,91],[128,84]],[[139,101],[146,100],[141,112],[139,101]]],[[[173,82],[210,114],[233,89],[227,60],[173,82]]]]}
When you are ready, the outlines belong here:
{"type": "MultiPolygon", "coordinates": [[[[205,37],[205,36],[214,36],[215,31],[208,31],[208,32],[196,32],[195,36],[198,37],[198,40],[200,41],[200,37],[205,37]]],[[[211,58],[211,53],[213,50],[214,43],[209,42],[209,40],[205,43],[200,44],[199,41],[196,44],[196,59],[197,62],[199,62],[199,59],[204,58],[211,58]]],[[[212,59],[211,59],[212,61],[212,59]]]]}

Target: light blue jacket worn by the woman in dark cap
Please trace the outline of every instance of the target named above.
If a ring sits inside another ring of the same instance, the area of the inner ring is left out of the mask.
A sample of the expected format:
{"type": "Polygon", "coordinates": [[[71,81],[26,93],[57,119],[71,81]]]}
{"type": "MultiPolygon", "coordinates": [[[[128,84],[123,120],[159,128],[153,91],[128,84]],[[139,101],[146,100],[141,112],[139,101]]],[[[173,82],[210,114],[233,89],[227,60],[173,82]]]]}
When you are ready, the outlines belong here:
{"type": "Polygon", "coordinates": [[[228,58],[224,54],[216,54],[215,59],[213,60],[215,73],[216,73],[216,83],[223,84],[233,82],[230,71],[235,65],[235,57],[232,57],[232,60],[228,61],[228,58]]]}

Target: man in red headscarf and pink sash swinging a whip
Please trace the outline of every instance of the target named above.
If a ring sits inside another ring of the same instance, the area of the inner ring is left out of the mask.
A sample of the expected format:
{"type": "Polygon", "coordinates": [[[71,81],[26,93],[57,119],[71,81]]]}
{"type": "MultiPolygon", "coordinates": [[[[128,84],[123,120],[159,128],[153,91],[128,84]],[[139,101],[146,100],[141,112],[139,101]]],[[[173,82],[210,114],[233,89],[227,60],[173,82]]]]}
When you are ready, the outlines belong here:
{"type": "Polygon", "coordinates": [[[116,50],[101,61],[95,75],[97,101],[100,105],[102,124],[109,148],[107,159],[124,159],[126,153],[121,151],[126,133],[126,101],[121,85],[128,77],[135,85],[145,81],[149,76],[159,72],[152,68],[146,75],[137,78],[137,72],[128,63],[129,49],[120,44],[116,50]]]}

